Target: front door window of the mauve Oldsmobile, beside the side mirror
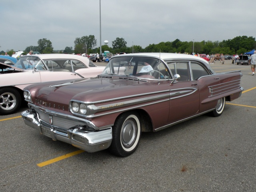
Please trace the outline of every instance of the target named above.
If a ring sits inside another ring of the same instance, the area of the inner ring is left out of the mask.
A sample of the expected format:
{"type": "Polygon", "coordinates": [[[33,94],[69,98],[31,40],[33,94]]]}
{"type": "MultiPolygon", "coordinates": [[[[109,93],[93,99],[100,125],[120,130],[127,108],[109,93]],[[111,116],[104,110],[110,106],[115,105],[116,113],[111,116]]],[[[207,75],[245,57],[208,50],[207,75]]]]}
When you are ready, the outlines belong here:
{"type": "Polygon", "coordinates": [[[190,71],[188,62],[172,62],[168,63],[168,66],[172,72],[172,75],[179,74],[179,81],[190,81],[190,71]]]}

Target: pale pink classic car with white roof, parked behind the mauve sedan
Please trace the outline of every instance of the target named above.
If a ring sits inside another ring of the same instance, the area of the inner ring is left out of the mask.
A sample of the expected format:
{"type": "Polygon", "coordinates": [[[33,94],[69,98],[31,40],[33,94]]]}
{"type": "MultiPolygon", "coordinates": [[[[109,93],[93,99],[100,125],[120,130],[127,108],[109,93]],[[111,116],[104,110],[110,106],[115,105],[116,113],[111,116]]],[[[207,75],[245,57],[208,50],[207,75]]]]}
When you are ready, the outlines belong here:
{"type": "Polygon", "coordinates": [[[0,115],[20,108],[22,90],[30,84],[94,77],[103,70],[88,58],[72,54],[22,56],[14,66],[0,63],[0,115]]]}

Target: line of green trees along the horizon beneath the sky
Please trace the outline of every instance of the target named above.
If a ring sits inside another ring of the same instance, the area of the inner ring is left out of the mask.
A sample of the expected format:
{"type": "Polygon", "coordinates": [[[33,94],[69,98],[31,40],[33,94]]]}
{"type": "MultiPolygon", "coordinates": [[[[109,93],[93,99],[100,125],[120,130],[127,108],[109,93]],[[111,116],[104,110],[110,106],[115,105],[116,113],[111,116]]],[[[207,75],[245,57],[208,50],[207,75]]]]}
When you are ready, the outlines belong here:
{"type": "MultiPolygon", "coordinates": [[[[66,47],[64,50],[54,51],[52,47],[52,42],[46,38],[38,40],[38,46],[28,46],[25,48],[24,54],[27,54],[30,50],[38,51],[40,53],[67,53],[67,54],[82,54],[82,53],[96,53],[100,52],[100,47],[96,47],[97,40],[94,35],[82,36],[81,38],[76,38],[74,40],[74,49],[72,47],[66,47]]],[[[133,45],[128,47],[127,42],[124,38],[116,38],[112,41],[112,47],[107,44],[102,45],[102,52],[110,51],[113,54],[119,52],[170,52],[170,53],[194,53],[200,54],[244,54],[245,52],[251,51],[256,48],[256,41],[254,37],[247,36],[237,36],[233,39],[219,41],[202,41],[202,42],[193,42],[193,41],[180,41],[176,39],[172,42],[160,42],[158,44],[149,44],[145,48],[142,48],[140,45],[133,45]]],[[[15,50],[8,50],[8,54],[12,55],[12,52],[15,50]]],[[[17,51],[17,50],[16,50],[17,51]]],[[[4,54],[4,51],[1,51],[1,54],[4,54]]]]}

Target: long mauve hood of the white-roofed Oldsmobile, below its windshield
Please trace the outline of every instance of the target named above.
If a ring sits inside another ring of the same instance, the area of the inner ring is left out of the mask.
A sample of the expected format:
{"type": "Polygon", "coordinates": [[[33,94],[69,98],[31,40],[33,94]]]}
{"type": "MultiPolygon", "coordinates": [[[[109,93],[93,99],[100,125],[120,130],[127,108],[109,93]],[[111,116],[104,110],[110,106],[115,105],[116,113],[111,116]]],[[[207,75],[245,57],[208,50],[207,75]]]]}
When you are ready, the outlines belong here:
{"type": "MultiPolygon", "coordinates": [[[[58,106],[59,110],[64,112],[68,111],[70,100],[96,102],[111,100],[113,97],[127,97],[129,95],[150,92],[148,85],[152,86],[154,84],[158,85],[158,82],[96,77],[45,82],[27,86],[24,90],[30,91],[33,98],[36,99],[33,102],[36,102],[39,106],[44,106],[44,108],[58,106]]],[[[155,91],[157,91],[157,87],[155,91]]]]}

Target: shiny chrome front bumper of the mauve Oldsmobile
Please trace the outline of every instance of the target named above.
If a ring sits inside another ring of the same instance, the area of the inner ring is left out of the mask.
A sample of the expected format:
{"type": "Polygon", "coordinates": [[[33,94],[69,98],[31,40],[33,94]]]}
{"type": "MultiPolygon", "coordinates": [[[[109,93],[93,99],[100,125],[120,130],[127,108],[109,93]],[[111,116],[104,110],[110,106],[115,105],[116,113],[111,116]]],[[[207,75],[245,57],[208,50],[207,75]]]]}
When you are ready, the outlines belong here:
{"type": "Polygon", "coordinates": [[[54,126],[45,126],[38,118],[38,114],[34,111],[26,110],[21,113],[24,123],[35,128],[52,140],[59,140],[72,144],[73,146],[85,150],[87,152],[96,152],[108,148],[112,142],[112,127],[108,127],[99,131],[80,130],[79,126],[70,128],[67,133],[55,130],[54,126]]]}

